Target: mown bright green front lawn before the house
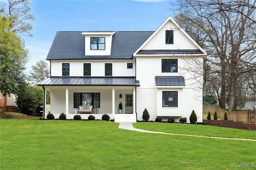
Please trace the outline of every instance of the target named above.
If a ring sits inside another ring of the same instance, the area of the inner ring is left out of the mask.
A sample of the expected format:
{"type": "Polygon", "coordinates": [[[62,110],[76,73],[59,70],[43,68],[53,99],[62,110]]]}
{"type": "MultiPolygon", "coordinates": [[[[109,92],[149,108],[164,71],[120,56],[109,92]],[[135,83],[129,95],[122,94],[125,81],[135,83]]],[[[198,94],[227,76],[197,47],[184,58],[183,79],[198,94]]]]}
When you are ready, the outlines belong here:
{"type": "MultiPolygon", "coordinates": [[[[157,124],[170,126],[134,126],[157,124]]],[[[0,169],[226,170],[234,169],[232,163],[256,164],[254,141],[150,134],[118,129],[118,125],[108,121],[1,119],[0,169]]],[[[180,126],[185,128],[188,126],[180,126]]]]}

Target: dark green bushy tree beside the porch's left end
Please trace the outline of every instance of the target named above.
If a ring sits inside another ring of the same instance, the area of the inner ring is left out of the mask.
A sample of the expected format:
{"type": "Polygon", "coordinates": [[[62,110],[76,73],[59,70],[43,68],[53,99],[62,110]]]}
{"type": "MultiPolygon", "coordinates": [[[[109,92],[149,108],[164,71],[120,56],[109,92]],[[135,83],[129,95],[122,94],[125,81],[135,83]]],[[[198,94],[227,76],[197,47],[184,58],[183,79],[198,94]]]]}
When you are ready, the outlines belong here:
{"type": "Polygon", "coordinates": [[[16,103],[21,113],[40,115],[40,106],[43,105],[43,89],[37,85],[24,83],[18,85],[16,103]]]}

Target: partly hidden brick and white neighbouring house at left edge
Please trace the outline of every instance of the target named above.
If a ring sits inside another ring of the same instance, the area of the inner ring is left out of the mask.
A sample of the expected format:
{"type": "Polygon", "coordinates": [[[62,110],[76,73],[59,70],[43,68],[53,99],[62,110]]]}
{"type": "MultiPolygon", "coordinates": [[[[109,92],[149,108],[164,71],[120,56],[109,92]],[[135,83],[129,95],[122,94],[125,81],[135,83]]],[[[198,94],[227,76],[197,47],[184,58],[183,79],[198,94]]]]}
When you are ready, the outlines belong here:
{"type": "Polygon", "coordinates": [[[0,92],[0,109],[2,112],[17,112],[16,96],[14,94],[4,96],[0,92]]]}

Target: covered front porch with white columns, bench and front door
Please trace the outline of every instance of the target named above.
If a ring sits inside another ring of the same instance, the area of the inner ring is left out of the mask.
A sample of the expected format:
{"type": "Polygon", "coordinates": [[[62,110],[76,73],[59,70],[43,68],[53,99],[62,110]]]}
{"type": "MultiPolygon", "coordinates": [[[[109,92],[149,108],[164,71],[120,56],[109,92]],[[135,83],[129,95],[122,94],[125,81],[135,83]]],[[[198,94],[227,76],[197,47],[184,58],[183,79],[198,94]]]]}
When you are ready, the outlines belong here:
{"type": "MultiPolygon", "coordinates": [[[[50,79],[50,78],[49,78],[50,79]]],[[[62,78],[63,79],[63,78],[62,78]]],[[[66,119],[73,119],[74,115],[80,115],[82,119],[88,119],[93,115],[95,119],[102,119],[103,114],[110,116],[115,122],[136,122],[136,86],[126,82],[125,85],[52,85],[44,83],[44,100],[46,90],[51,93],[51,113],[58,119],[61,113],[66,114],[66,119]],[[119,113],[118,107],[122,103],[123,110],[119,113]],[[79,113],[79,106],[93,106],[98,109],[95,113],[79,113]]],[[[44,108],[45,109],[45,108],[44,108]]],[[[46,117],[47,113],[44,115],[46,117]]]]}

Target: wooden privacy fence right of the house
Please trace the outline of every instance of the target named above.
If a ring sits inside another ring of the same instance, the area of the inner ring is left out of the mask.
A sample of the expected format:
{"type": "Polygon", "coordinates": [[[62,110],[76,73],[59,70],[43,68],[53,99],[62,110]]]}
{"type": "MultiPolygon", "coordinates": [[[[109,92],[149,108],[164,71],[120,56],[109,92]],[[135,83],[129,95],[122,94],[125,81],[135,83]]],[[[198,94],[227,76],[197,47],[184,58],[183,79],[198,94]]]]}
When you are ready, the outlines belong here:
{"type": "Polygon", "coordinates": [[[228,120],[256,125],[256,111],[226,111],[218,106],[203,105],[203,113],[208,114],[208,112],[210,112],[211,115],[214,115],[214,112],[216,112],[221,119],[224,119],[224,114],[226,112],[228,120]]]}

